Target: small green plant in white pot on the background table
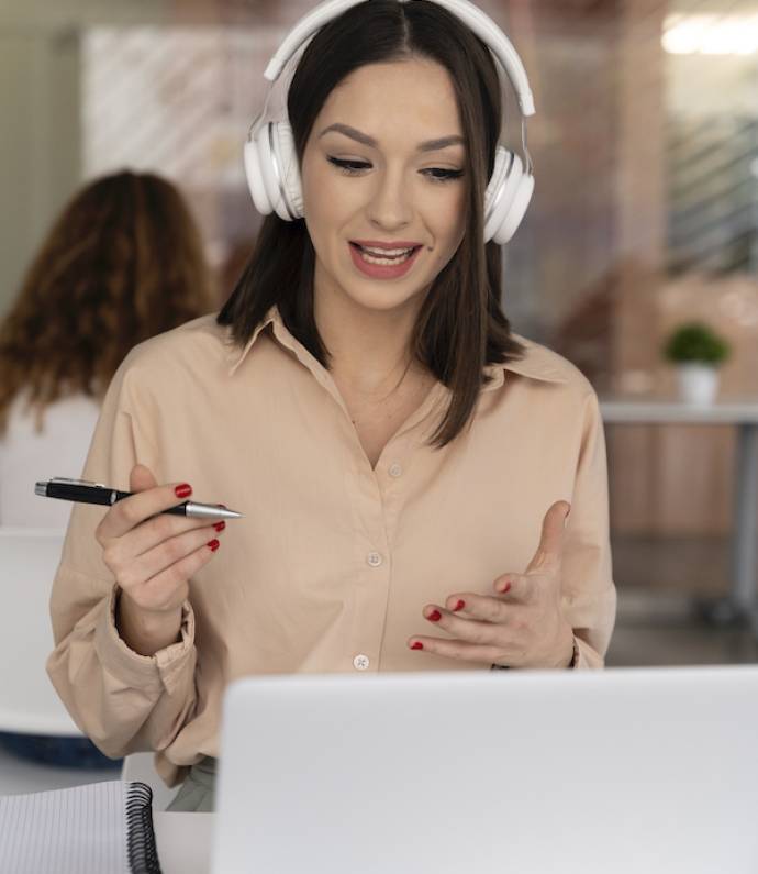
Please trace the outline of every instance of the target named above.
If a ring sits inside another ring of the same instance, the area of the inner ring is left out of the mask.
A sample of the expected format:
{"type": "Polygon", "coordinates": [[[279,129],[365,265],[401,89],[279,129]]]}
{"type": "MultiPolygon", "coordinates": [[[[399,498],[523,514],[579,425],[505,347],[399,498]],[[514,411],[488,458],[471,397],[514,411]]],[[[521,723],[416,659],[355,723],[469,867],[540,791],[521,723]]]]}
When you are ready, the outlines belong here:
{"type": "Polygon", "coordinates": [[[713,402],[718,390],[717,368],[729,353],[726,340],[702,322],[681,324],[669,334],[664,355],[677,366],[679,394],[685,403],[713,402]]]}

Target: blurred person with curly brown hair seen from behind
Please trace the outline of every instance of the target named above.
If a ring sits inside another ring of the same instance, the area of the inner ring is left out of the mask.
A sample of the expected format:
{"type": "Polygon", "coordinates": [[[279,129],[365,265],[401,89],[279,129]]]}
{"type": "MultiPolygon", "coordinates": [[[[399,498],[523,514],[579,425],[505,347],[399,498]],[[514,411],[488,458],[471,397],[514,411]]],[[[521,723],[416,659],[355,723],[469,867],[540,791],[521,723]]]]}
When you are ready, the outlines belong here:
{"type": "MultiPolygon", "coordinates": [[[[66,528],[71,505],[42,500],[34,482],[79,477],[126,353],[213,307],[200,233],[174,185],[124,170],[75,195],[0,322],[0,525],[66,528]]],[[[87,739],[0,740],[59,764],[112,764],[87,739]]]]}

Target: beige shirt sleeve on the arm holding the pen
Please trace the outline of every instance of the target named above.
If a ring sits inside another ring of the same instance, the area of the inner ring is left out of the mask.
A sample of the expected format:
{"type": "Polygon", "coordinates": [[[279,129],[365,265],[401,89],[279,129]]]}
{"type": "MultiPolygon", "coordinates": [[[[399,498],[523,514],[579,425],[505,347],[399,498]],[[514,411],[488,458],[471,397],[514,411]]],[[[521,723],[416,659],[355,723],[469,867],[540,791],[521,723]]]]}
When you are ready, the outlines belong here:
{"type": "MultiPolygon", "coordinates": [[[[125,491],[137,462],[159,469],[130,359],[131,354],[108,389],[81,477],[125,491]]],[[[155,655],[137,654],[119,637],[118,586],[94,535],[107,509],[73,506],[51,596],[55,650],[47,673],[79,729],[116,759],[165,749],[189,721],[197,653],[189,601],[182,605],[180,640],[155,655]]]]}

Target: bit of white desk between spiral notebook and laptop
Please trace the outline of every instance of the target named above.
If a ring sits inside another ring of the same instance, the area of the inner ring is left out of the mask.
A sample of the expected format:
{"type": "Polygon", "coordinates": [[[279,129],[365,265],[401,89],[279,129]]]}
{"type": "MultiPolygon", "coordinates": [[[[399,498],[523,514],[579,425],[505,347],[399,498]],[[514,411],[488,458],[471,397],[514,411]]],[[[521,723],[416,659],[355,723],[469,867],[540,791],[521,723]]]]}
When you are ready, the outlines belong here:
{"type": "Polygon", "coordinates": [[[155,840],[164,874],[209,874],[215,814],[153,811],[155,840]]]}

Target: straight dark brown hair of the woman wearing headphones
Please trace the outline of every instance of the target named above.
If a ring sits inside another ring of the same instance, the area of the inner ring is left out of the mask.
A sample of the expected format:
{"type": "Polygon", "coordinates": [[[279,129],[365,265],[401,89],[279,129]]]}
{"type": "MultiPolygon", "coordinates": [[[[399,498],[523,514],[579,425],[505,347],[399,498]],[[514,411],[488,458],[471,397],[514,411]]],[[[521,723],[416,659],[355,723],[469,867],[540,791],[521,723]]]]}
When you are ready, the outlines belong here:
{"type": "MultiPolygon", "coordinates": [[[[416,0],[368,0],[328,22],[308,45],[292,77],[287,110],[298,161],[331,91],[367,64],[426,57],[445,67],[453,81],[467,143],[466,232],[454,257],[437,275],[419,313],[412,349],[452,391],[432,440],[442,447],[470,423],[486,364],[522,357],[500,306],[500,246],[483,242],[483,202],[492,174],[502,97],[492,56],[459,19],[416,0]]],[[[288,330],[324,367],[330,354],[313,316],[315,254],[305,222],[264,219],[250,261],[218,316],[244,345],[268,309],[277,305],[288,330]]]]}

